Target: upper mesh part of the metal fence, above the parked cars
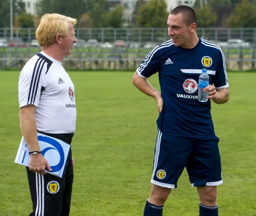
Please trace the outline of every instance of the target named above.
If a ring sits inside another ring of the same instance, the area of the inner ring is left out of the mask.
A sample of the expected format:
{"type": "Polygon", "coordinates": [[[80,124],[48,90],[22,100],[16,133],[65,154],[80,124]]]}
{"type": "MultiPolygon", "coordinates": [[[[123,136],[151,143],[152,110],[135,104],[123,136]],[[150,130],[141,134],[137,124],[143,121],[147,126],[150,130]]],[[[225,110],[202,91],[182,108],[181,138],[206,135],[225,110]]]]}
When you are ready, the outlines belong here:
{"type": "MultiPolygon", "coordinates": [[[[14,40],[30,42],[35,39],[36,28],[14,28],[14,40]]],[[[210,41],[225,42],[241,39],[256,44],[256,28],[197,28],[198,36],[210,41]]],[[[76,28],[78,39],[95,39],[98,42],[164,42],[167,28],[76,28]]],[[[10,28],[0,28],[0,38],[10,38],[10,28]]]]}

